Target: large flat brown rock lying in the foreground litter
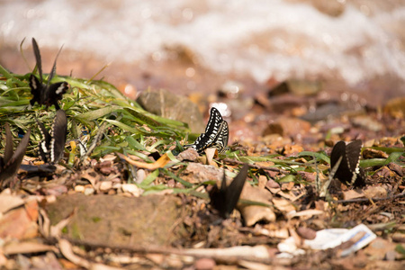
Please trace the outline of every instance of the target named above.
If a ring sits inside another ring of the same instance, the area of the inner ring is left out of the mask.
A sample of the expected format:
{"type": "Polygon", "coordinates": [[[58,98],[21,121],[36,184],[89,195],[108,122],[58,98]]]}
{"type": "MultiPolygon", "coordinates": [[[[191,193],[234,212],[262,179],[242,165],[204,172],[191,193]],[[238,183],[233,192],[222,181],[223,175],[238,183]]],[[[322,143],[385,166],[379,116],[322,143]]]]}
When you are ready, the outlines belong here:
{"type": "Polygon", "coordinates": [[[49,203],[46,211],[51,224],[57,224],[76,209],[67,225],[67,237],[109,245],[139,247],[170,246],[181,238],[182,226],[175,224],[185,210],[175,195],[123,197],[85,196],[81,193],[61,195],[49,203]],[[180,207],[182,208],[180,210],[180,207]]]}

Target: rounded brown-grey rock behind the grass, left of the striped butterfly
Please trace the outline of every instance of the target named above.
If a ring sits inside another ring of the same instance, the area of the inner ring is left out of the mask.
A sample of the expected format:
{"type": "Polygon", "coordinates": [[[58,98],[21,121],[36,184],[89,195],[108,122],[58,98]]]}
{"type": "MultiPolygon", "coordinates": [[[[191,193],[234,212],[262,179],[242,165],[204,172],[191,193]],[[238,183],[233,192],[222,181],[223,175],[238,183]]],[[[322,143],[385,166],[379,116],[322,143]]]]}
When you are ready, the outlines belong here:
{"type": "Polygon", "coordinates": [[[198,106],[183,95],[164,89],[147,90],[139,94],[137,102],[148,112],[187,123],[194,133],[202,133],[205,130],[198,106]]]}

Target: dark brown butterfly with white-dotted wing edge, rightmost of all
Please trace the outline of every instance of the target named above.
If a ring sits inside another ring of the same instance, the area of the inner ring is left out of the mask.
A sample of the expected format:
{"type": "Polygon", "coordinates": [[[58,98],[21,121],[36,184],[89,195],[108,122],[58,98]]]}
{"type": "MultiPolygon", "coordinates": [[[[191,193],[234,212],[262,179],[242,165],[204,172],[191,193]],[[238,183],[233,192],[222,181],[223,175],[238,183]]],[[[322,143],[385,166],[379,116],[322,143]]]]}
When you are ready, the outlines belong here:
{"type": "Polygon", "coordinates": [[[348,144],[340,140],[332,148],[330,154],[330,167],[336,166],[341,157],[340,164],[334,175],[340,182],[347,185],[363,186],[365,185],[365,171],[360,165],[360,152],[362,149],[362,140],[356,139],[348,144]]]}

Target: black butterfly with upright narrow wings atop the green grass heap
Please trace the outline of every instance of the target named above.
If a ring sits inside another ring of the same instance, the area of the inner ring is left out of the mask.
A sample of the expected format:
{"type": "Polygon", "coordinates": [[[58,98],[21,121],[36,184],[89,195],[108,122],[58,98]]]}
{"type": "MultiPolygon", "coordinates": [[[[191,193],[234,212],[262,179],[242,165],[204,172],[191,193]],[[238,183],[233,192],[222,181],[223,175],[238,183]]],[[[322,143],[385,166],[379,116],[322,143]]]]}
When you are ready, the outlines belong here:
{"type": "Polygon", "coordinates": [[[43,84],[42,78],[42,62],[40,60],[40,48],[38,47],[37,41],[32,38],[32,48],[34,51],[35,59],[37,61],[38,72],[40,73],[40,79],[36,76],[31,74],[30,76],[30,88],[31,94],[33,97],[31,98],[30,104],[33,106],[35,103],[39,103],[40,105],[45,105],[48,109],[49,106],[55,105],[55,109],[60,109],[58,101],[62,99],[62,95],[67,92],[68,84],[67,82],[59,82],[50,85],[50,81],[52,80],[53,76],[55,76],[56,72],[56,62],[58,59],[58,55],[60,53],[59,49],[58,55],[55,58],[55,62],[53,63],[53,67],[50,70],[48,82],[46,85],[43,84]]]}

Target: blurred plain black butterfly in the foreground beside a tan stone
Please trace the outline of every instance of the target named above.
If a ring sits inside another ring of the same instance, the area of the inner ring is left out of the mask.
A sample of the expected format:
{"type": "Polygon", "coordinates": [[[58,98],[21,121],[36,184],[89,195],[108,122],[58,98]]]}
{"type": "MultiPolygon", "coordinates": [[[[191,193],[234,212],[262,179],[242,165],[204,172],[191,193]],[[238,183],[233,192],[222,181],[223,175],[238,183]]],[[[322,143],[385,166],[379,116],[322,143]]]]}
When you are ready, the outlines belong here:
{"type": "Polygon", "coordinates": [[[214,209],[219,211],[222,218],[228,218],[229,214],[235,209],[238,203],[240,193],[242,193],[243,186],[245,185],[247,177],[247,164],[242,166],[240,172],[227,186],[225,174],[223,175],[220,189],[214,185],[210,192],[211,205],[214,209]]]}

